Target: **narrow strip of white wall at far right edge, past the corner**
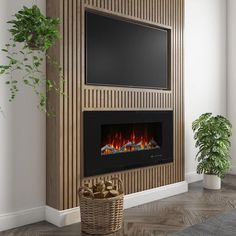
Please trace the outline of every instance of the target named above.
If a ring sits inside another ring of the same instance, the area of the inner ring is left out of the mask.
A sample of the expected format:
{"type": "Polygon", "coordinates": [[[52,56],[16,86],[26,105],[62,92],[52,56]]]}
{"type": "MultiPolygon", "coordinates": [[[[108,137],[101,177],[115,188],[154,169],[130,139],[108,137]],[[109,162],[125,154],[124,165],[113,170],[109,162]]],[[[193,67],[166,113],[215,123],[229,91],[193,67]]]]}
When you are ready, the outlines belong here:
{"type": "Polygon", "coordinates": [[[228,0],[228,83],[227,83],[227,113],[233,124],[232,136],[232,173],[236,174],[236,1],[228,0]]]}

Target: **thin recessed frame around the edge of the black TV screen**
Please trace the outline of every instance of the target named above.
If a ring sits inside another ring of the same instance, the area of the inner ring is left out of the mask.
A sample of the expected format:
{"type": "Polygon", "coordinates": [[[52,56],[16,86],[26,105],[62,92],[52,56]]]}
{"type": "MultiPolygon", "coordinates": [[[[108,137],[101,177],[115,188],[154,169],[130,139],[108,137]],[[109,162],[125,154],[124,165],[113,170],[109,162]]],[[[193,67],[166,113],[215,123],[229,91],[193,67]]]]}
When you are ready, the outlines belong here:
{"type": "Polygon", "coordinates": [[[105,87],[119,87],[119,88],[140,88],[140,89],[155,89],[155,90],[167,90],[170,91],[172,89],[172,76],[171,76],[171,70],[172,70],[172,40],[171,40],[171,35],[172,35],[172,27],[168,26],[168,25],[163,25],[163,24],[159,24],[156,23],[154,24],[153,22],[149,22],[147,20],[142,20],[142,19],[134,19],[134,18],[129,18],[129,17],[124,17],[124,16],[120,16],[120,15],[116,15],[114,13],[107,13],[107,12],[103,12],[103,11],[98,11],[98,10],[94,10],[94,9],[90,9],[90,8],[85,8],[85,14],[84,14],[84,59],[85,59],[85,85],[93,85],[93,86],[105,86],[105,87]],[[168,67],[168,78],[167,78],[167,83],[166,83],[166,87],[156,87],[156,86],[134,86],[134,85],[116,85],[116,84],[102,84],[102,83],[89,83],[87,81],[87,38],[86,38],[86,12],[90,12],[93,14],[97,14],[100,16],[105,16],[108,18],[112,18],[112,19],[116,19],[116,20],[120,20],[120,21],[125,21],[128,23],[132,23],[132,24],[137,24],[137,25],[141,25],[141,26],[145,26],[145,27],[150,27],[150,28],[155,28],[155,29],[159,29],[159,30],[165,30],[167,32],[167,38],[168,38],[168,62],[167,62],[167,67],[168,67]]]}

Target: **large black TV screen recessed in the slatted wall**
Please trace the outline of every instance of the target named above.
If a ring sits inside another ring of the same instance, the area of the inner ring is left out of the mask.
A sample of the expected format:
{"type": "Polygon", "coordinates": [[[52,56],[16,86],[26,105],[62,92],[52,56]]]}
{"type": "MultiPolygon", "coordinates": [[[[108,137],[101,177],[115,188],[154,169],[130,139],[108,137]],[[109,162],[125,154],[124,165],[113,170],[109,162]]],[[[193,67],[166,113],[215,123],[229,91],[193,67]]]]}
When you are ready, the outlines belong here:
{"type": "Polygon", "coordinates": [[[168,89],[168,30],[86,12],[86,83],[168,89]]]}

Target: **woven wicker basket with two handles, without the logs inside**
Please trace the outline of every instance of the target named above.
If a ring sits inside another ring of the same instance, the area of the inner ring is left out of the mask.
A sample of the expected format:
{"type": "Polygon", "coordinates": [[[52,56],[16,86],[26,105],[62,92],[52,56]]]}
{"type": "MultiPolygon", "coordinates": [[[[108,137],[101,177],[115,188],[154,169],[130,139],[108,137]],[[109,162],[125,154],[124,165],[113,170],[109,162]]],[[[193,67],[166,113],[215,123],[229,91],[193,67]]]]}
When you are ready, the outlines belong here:
{"type": "MultiPolygon", "coordinates": [[[[123,192],[123,182],[119,178],[119,188],[123,192]]],[[[82,187],[79,190],[80,196],[80,212],[81,212],[81,228],[83,232],[89,234],[110,234],[122,227],[123,222],[123,202],[124,194],[117,197],[94,199],[85,197],[83,191],[88,188],[82,187]]]]}

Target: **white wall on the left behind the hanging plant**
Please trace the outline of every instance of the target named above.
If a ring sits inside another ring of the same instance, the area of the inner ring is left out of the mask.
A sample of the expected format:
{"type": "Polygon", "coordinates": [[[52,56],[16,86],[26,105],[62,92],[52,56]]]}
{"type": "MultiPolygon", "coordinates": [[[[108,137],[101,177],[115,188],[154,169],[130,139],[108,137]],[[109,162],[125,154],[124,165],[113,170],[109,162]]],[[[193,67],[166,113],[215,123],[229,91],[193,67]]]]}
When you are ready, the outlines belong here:
{"type": "MultiPolygon", "coordinates": [[[[1,0],[0,48],[8,42],[6,21],[23,5],[33,0],[1,0]]],[[[45,11],[45,0],[38,1],[45,11]]],[[[6,59],[0,52],[0,64],[6,59]]],[[[37,98],[28,88],[20,88],[9,103],[8,90],[0,77],[0,231],[1,217],[8,213],[45,205],[46,123],[37,109],[37,98]]]]}

